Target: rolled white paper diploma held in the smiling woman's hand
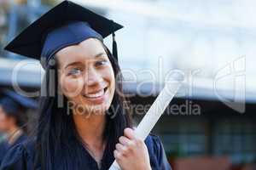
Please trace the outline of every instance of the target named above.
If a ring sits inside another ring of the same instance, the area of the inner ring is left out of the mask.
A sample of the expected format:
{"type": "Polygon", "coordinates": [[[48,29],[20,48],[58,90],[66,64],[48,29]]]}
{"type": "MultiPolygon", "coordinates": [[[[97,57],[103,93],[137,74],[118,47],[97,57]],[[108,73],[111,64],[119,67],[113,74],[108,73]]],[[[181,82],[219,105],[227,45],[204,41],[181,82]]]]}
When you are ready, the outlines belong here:
{"type": "MultiPolygon", "coordinates": [[[[162,89],[158,97],[154,100],[154,103],[149,108],[143,120],[139,123],[135,129],[135,133],[138,138],[146,139],[155,123],[159,120],[160,116],[166,110],[167,105],[171,102],[172,98],[177,93],[178,88],[181,86],[181,82],[175,82],[172,84],[166,84],[162,89]]],[[[120,170],[117,161],[113,161],[111,167],[108,170],[120,170]]]]}

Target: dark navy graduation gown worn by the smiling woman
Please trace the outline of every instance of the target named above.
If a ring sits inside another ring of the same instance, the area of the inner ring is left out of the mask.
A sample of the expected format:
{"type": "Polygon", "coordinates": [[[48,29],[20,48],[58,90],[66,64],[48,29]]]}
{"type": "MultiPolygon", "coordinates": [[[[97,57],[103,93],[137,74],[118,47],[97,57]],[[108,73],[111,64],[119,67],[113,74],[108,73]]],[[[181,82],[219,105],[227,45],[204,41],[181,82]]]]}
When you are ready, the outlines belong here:
{"type": "MultiPolygon", "coordinates": [[[[150,157],[150,164],[153,170],[171,170],[170,164],[166,159],[165,150],[163,145],[160,142],[160,138],[155,135],[148,135],[145,140],[145,144],[148,147],[148,154],[150,157]]],[[[14,148],[9,150],[7,156],[5,156],[0,170],[11,170],[11,169],[19,169],[19,170],[42,170],[42,167],[36,163],[34,163],[35,157],[35,149],[34,142],[17,144],[14,148]]],[[[82,169],[90,169],[90,170],[99,170],[97,167],[96,161],[90,156],[90,154],[84,150],[83,154],[83,162],[80,162],[82,169]]],[[[54,169],[67,169],[73,170],[74,167],[67,163],[67,165],[63,165],[60,160],[55,160],[55,168],[54,169]],[[65,167],[62,167],[65,166],[65,167]]],[[[75,158],[74,158],[75,160],[75,158]]],[[[74,161],[70,160],[70,161],[74,161]]],[[[108,151],[104,151],[102,157],[102,168],[101,170],[108,170],[108,167],[112,164],[114,160],[113,154],[108,153],[108,151]]],[[[79,168],[80,169],[80,168],[79,168]]]]}

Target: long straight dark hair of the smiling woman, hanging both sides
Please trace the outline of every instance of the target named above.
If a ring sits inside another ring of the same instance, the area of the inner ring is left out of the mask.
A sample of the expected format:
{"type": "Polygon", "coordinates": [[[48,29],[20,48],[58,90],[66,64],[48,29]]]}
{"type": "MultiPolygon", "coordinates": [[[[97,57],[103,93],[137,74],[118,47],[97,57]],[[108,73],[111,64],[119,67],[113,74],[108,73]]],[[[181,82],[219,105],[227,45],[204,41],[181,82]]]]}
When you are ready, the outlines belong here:
{"type": "MultiPolygon", "coordinates": [[[[107,123],[103,134],[106,140],[106,149],[109,153],[113,153],[115,144],[118,142],[119,136],[123,135],[125,127],[131,127],[131,116],[125,110],[125,97],[122,91],[122,75],[117,59],[109,52],[104,45],[108,54],[108,59],[113,67],[115,77],[115,92],[113,101],[106,114],[107,123]]],[[[55,61],[55,60],[53,60],[55,61]]],[[[73,160],[73,169],[79,168],[79,139],[73,122],[72,114],[67,114],[68,105],[67,98],[63,96],[58,88],[57,63],[52,62],[45,70],[44,82],[41,88],[38,132],[37,132],[37,154],[35,162],[39,163],[43,169],[55,169],[54,163],[68,165],[67,161],[73,160]],[[62,97],[62,106],[58,106],[58,102],[62,97]],[[75,139],[71,142],[70,139],[75,139]]],[[[64,167],[65,168],[65,167],[64,167]]]]}

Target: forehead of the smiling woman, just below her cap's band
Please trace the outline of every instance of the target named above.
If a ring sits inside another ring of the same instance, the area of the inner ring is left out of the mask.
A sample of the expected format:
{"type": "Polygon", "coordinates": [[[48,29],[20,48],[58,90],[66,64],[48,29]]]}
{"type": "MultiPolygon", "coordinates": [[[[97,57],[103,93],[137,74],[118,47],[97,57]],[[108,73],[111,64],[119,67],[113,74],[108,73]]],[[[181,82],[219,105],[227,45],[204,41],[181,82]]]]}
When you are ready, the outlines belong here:
{"type": "Polygon", "coordinates": [[[97,54],[106,54],[102,42],[89,38],[79,44],[62,48],[55,54],[60,65],[67,65],[87,59],[94,59],[97,54]]]}

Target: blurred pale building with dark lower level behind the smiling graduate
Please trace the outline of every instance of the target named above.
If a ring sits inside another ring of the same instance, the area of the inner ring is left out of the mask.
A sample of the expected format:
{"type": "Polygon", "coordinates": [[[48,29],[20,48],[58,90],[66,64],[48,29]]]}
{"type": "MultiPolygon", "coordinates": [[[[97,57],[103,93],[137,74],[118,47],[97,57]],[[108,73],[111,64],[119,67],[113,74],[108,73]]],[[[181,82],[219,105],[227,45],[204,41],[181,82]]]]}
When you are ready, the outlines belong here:
{"type": "MultiPolygon", "coordinates": [[[[0,0],[1,88],[40,88],[44,71],[38,61],[9,54],[3,46],[59,2],[0,0]]],[[[138,105],[152,104],[166,74],[183,71],[183,88],[154,127],[174,170],[255,169],[256,3],[74,2],[125,26],[117,32],[119,63],[136,122],[147,111],[138,105]]],[[[111,37],[106,43],[111,47],[111,37]]]]}

